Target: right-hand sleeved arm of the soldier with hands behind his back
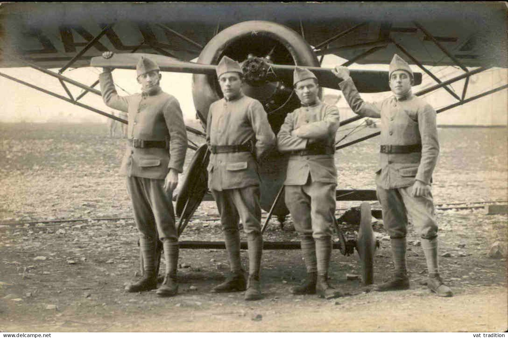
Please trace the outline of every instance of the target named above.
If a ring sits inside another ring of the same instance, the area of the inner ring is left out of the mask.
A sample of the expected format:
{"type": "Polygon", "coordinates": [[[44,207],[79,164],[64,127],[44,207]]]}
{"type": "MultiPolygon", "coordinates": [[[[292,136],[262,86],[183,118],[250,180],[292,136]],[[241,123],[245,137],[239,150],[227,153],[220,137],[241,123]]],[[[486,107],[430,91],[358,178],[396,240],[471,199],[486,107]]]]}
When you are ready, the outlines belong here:
{"type": "Polygon", "coordinates": [[[265,108],[259,101],[256,100],[249,106],[249,118],[256,134],[256,158],[259,160],[275,146],[275,134],[268,122],[265,108]]]}

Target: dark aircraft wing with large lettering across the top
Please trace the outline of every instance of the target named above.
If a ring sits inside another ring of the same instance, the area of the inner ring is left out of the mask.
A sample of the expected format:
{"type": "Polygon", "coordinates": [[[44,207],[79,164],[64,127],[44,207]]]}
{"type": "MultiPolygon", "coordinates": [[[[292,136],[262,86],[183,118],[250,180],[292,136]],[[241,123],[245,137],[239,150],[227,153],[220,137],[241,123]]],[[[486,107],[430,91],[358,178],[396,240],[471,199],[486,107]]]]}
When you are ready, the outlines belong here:
{"type": "Polygon", "coordinates": [[[456,64],[437,41],[463,66],[506,67],[505,19],[503,3],[7,3],[0,67],[24,66],[12,54],[45,68],[78,55],[72,67],[88,66],[106,50],[191,60],[216,32],[246,20],[285,24],[317,55],[351,60],[374,48],[362,64],[390,63],[400,53],[393,42],[424,65],[456,64]]]}

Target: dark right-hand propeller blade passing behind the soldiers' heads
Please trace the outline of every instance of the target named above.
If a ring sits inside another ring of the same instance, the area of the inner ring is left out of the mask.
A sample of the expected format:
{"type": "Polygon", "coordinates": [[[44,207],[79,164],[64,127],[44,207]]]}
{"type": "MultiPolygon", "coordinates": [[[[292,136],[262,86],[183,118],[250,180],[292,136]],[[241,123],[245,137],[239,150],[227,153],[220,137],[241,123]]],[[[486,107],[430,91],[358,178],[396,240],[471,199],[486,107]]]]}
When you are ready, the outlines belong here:
{"type": "MultiPolygon", "coordinates": [[[[304,67],[317,77],[322,87],[338,89],[340,80],[333,75],[331,68],[321,67],[304,67]]],[[[293,83],[293,71],[295,66],[286,65],[270,65],[271,71],[268,75],[273,81],[284,81],[286,83],[293,83]]],[[[385,71],[372,71],[372,70],[357,70],[350,69],[350,76],[355,82],[355,85],[360,93],[379,93],[382,91],[389,91],[390,86],[388,83],[388,72],[385,71]]],[[[415,84],[422,83],[422,73],[415,73],[415,84]]]]}

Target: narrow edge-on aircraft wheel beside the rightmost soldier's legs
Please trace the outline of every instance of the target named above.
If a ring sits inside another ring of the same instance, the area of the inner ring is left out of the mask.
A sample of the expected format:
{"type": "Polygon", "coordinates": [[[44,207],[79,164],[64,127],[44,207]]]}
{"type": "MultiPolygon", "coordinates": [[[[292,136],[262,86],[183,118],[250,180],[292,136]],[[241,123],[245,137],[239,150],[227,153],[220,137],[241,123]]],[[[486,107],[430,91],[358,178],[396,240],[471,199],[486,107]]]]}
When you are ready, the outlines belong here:
{"type": "Polygon", "coordinates": [[[370,205],[367,202],[363,202],[360,206],[360,214],[360,231],[358,232],[356,250],[361,260],[363,284],[370,285],[374,282],[376,239],[372,230],[370,205]]]}

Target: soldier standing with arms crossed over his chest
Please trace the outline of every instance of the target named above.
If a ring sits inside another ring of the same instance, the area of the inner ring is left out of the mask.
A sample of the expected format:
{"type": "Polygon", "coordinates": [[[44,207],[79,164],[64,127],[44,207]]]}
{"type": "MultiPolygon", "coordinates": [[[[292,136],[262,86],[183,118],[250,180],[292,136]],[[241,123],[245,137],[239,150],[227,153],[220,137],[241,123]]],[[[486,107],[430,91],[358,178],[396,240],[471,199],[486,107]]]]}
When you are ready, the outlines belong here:
{"type": "Polygon", "coordinates": [[[341,293],[328,284],[335,222],[337,170],[335,133],[339,110],[321,102],[316,76],[295,68],[294,88],[301,108],[289,113],[277,135],[277,148],[289,152],[284,181],[285,203],[291,212],[302,248],[308,279],[293,294],[315,294],[327,299],[341,293]]]}

